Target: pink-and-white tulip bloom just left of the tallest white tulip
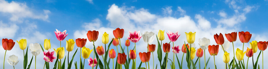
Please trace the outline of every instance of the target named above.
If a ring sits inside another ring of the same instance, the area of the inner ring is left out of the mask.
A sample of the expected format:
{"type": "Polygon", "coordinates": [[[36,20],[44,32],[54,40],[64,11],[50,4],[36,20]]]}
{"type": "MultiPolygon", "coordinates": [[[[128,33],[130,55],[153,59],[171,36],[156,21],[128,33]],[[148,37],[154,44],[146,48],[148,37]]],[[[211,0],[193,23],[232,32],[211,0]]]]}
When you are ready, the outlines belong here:
{"type": "Polygon", "coordinates": [[[140,36],[140,31],[134,31],[134,32],[131,32],[131,31],[128,31],[129,33],[129,37],[127,37],[127,39],[129,39],[131,42],[133,43],[137,43],[142,36],[140,36]]]}

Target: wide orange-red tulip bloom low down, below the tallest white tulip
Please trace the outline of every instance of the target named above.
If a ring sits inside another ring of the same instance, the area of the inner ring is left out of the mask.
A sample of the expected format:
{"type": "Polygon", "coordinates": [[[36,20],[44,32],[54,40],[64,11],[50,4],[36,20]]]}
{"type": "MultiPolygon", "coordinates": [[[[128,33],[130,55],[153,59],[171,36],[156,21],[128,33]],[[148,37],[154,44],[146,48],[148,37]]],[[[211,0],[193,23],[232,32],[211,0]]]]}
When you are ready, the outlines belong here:
{"type": "Polygon", "coordinates": [[[140,59],[141,59],[141,62],[145,63],[145,62],[149,62],[150,60],[150,57],[151,57],[151,52],[143,52],[143,53],[139,53],[140,55],[140,59]]]}

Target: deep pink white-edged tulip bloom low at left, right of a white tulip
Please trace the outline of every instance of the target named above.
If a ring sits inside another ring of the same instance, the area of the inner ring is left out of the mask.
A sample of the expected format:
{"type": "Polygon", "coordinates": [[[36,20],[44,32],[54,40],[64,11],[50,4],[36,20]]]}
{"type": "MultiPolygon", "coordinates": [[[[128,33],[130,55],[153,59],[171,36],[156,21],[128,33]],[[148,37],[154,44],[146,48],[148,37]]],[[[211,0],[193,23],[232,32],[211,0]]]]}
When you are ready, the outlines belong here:
{"type": "Polygon", "coordinates": [[[50,49],[48,51],[44,51],[44,60],[46,62],[53,62],[53,60],[57,59],[57,57],[54,56],[54,51],[50,52],[50,49]]]}

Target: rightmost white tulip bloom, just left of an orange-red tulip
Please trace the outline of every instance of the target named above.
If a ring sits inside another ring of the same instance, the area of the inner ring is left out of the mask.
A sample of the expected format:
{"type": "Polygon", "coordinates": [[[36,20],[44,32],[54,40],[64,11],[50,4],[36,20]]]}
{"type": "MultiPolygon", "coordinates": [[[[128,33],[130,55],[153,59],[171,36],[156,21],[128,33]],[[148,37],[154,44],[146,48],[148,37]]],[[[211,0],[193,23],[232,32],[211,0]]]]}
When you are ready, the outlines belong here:
{"type": "Polygon", "coordinates": [[[208,49],[208,45],[210,44],[210,40],[207,38],[202,38],[202,39],[199,38],[198,44],[199,44],[201,49],[206,50],[206,49],[208,49]]]}

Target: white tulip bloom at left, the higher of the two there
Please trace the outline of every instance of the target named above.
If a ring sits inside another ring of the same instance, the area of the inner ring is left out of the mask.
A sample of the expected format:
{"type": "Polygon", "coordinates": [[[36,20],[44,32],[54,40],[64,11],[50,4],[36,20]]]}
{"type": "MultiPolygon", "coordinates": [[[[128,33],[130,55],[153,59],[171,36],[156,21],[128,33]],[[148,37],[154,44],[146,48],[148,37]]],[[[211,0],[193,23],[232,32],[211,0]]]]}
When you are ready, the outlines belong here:
{"type": "Polygon", "coordinates": [[[39,43],[35,43],[35,44],[31,43],[30,44],[30,51],[34,56],[39,55],[39,53],[41,52],[41,47],[40,47],[39,43]]]}

